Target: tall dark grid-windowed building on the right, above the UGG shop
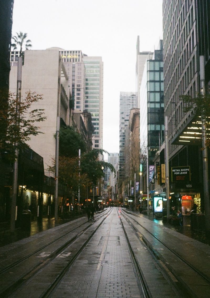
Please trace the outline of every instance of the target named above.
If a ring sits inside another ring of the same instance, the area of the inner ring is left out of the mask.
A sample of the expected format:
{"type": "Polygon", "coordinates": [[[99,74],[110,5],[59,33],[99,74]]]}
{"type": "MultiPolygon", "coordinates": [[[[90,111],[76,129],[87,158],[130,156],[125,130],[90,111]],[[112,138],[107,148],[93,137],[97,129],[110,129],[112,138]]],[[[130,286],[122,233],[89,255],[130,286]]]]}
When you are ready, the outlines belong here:
{"type": "MultiPolygon", "coordinates": [[[[181,95],[196,97],[200,91],[199,56],[205,57],[205,80],[210,80],[210,2],[163,1],[164,100],[168,116],[169,168],[190,166],[191,181],[171,182],[178,199],[191,195],[202,201],[201,123],[192,111],[184,112],[181,95]],[[200,162],[199,162],[200,160],[200,162]],[[181,190],[181,191],[180,191],[181,190]]],[[[207,90],[207,88],[206,88],[207,90]]]]}

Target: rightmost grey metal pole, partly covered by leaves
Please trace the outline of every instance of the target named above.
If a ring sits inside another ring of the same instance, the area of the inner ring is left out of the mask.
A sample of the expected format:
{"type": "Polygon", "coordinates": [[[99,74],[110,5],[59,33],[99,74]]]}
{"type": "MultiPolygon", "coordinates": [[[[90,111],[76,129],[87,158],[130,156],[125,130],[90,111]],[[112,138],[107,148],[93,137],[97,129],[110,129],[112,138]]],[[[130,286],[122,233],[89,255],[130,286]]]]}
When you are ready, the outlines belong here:
{"type": "MultiPolygon", "coordinates": [[[[200,94],[205,95],[205,58],[200,56],[200,94]]],[[[210,205],[209,205],[209,172],[208,151],[206,147],[206,119],[201,115],[202,125],[202,153],[203,153],[203,197],[206,215],[206,231],[210,232],[210,205]]]]}

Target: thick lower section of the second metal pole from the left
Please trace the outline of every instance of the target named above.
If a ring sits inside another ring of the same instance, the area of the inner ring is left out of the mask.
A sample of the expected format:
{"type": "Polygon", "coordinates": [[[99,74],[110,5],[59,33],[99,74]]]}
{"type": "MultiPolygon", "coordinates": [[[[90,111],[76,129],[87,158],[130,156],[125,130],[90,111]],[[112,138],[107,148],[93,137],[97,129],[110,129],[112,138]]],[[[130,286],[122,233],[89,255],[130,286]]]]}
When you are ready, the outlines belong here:
{"type": "Polygon", "coordinates": [[[56,147],[55,147],[55,221],[58,221],[59,131],[60,131],[60,117],[57,117],[57,125],[56,125],[56,147]]]}

